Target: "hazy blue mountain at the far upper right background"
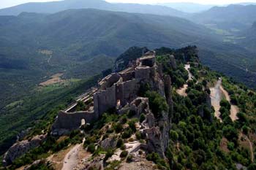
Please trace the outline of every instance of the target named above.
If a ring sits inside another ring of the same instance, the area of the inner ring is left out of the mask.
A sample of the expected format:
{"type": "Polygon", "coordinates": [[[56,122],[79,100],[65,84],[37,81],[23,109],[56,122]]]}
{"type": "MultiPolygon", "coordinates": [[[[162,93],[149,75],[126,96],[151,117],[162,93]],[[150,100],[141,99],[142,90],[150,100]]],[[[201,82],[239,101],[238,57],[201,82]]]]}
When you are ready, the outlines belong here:
{"type": "Polygon", "coordinates": [[[217,25],[227,30],[249,28],[255,21],[256,5],[232,4],[227,7],[212,7],[206,12],[192,16],[197,23],[217,25]]]}

